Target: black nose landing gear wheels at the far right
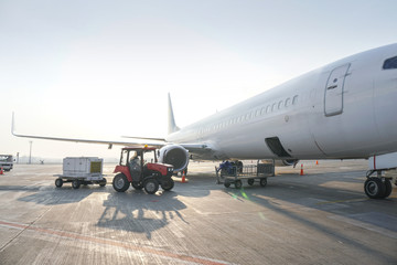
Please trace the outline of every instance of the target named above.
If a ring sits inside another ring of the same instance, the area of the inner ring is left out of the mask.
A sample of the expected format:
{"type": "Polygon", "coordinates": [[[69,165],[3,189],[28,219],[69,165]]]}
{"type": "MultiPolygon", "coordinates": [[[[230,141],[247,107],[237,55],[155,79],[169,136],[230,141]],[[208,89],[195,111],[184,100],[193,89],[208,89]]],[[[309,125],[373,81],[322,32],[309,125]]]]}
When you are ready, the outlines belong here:
{"type": "Polygon", "coordinates": [[[382,170],[369,170],[366,174],[367,180],[364,183],[364,191],[371,199],[385,199],[391,193],[391,182],[382,177],[382,170]],[[371,177],[374,172],[377,177],[371,177]]]}

